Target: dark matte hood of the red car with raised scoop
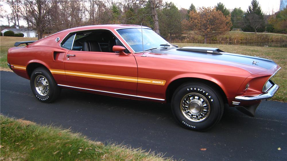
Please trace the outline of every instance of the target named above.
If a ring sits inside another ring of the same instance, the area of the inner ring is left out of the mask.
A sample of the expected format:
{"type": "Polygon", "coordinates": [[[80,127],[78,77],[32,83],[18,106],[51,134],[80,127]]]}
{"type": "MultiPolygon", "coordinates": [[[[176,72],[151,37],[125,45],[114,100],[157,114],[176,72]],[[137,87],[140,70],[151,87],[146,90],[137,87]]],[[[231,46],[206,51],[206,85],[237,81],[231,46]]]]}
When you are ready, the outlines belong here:
{"type": "MultiPolygon", "coordinates": [[[[187,47],[188,48],[188,47],[187,47]]],[[[261,57],[247,56],[233,53],[217,52],[206,53],[199,51],[183,51],[181,48],[167,48],[151,51],[149,54],[168,56],[170,59],[184,59],[190,61],[202,61],[208,63],[224,64],[234,67],[241,67],[250,69],[253,67],[265,69],[274,73],[279,66],[272,60],[264,59],[261,57]],[[248,67],[247,67],[248,66],[248,67]]],[[[216,49],[216,48],[204,48],[204,49],[216,49]]],[[[221,50],[219,50],[221,51],[221,50]]],[[[216,52],[216,51],[215,51],[216,52]]],[[[167,58],[167,57],[164,57],[167,58]]],[[[250,72],[250,70],[248,70],[250,72]]],[[[253,73],[253,72],[251,72],[253,73]]]]}

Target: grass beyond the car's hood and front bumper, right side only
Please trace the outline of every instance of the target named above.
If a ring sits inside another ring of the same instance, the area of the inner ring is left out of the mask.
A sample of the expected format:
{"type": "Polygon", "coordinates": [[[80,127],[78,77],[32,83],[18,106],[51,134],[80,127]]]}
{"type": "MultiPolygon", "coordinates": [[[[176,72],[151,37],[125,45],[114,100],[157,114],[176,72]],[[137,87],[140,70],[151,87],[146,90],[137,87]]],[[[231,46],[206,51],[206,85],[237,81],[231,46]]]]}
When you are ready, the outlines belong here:
{"type": "Polygon", "coordinates": [[[280,86],[275,96],[271,100],[287,102],[287,48],[284,47],[258,47],[243,45],[218,45],[218,44],[195,44],[195,43],[174,43],[179,47],[197,46],[197,47],[216,47],[228,53],[237,53],[250,56],[266,56],[275,61],[281,70],[272,78],[280,86]]]}

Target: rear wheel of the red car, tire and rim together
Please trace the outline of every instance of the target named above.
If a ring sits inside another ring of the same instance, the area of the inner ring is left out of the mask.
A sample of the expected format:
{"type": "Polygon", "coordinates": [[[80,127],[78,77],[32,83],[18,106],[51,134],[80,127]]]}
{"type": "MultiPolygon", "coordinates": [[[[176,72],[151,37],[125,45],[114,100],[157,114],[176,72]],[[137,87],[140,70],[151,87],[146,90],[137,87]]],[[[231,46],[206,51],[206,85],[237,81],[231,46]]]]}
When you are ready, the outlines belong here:
{"type": "Polygon", "coordinates": [[[61,88],[56,84],[51,73],[42,67],[32,72],[30,86],[37,100],[43,103],[53,102],[61,94],[61,88]]]}

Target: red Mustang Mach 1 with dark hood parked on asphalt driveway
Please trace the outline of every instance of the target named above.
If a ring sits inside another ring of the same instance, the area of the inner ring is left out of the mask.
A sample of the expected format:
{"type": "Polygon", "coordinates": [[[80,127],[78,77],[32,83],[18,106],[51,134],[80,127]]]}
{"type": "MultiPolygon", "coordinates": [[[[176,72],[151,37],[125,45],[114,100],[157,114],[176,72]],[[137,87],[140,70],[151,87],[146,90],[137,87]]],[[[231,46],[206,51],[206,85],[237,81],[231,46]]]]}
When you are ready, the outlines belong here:
{"type": "Polygon", "coordinates": [[[9,67],[30,79],[44,103],[61,88],[171,103],[176,120],[192,130],[219,122],[224,106],[254,116],[279,86],[280,67],[269,59],[217,48],[172,45],[148,27],[96,25],[67,29],[25,47],[10,48],[9,67]]]}

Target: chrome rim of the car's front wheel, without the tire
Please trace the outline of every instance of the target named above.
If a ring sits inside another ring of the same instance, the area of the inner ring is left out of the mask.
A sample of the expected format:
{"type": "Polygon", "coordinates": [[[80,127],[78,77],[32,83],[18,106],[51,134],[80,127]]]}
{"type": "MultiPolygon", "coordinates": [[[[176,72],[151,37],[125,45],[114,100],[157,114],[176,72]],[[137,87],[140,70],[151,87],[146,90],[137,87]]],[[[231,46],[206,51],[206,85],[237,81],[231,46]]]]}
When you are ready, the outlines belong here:
{"type": "Polygon", "coordinates": [[[181,99],[180,110],[191,122],[202,122],[210,114],[210,104],[201,94],[189,93],[181,99]]]}

